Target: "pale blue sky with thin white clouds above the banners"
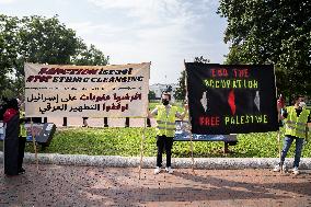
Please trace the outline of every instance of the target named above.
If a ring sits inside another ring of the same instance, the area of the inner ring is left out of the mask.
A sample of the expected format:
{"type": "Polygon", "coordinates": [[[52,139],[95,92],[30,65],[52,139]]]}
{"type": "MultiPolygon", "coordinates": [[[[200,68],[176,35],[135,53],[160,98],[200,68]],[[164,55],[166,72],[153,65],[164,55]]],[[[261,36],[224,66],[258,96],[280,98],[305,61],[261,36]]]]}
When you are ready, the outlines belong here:
{"type": "Polygon", "coordinates": [[[0,0],[5,15],[57,14],[112,65],[151,61],[150,84],[177,83],[184,60],[224,61],[227,20],[217,8],[218,0],[0,0]]]}

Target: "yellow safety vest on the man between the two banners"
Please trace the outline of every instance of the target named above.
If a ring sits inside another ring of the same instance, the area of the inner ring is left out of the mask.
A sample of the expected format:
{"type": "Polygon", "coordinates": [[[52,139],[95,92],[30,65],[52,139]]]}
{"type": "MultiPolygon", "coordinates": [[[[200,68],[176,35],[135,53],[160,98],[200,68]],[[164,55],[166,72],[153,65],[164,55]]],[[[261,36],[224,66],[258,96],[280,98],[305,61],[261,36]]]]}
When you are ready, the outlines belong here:
{"type": "Polygon", "coordinates": [[[164,105],[158,105],[158,115],[157,115],[157,135],[166,137],[175,136],[175,115],[177,112],[176,106],[171,106],[169,114],[166,114],[166,108],[164,105]]]}

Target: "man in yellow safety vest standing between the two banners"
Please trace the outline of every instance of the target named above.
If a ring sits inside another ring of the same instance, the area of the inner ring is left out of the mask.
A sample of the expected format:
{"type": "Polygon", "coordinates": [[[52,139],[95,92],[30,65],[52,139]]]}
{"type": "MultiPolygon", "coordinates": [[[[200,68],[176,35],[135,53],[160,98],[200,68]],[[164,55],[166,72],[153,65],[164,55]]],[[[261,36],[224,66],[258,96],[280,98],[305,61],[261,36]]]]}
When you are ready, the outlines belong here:
{"type": "Polygon", "coordinates": [[[161,96],[162,105],[157,105],[156,108],[150,113],[148,111],[148,117],[156,117],[157,119],[157,168],[154,174],[159,174],[162,168],[162,153],[163,149],[166,152],[166,168],[165,171],[170,174],[173,173],[171,168],[171,157],[172,157],[172,147],[173,138],[175,136],[175,119],[183,119],[187,113],[187,105],[185,104],[185,111],[183,114],[177,112],[176,106],[170,104],[171,94],[163,93],[161,96]]]}

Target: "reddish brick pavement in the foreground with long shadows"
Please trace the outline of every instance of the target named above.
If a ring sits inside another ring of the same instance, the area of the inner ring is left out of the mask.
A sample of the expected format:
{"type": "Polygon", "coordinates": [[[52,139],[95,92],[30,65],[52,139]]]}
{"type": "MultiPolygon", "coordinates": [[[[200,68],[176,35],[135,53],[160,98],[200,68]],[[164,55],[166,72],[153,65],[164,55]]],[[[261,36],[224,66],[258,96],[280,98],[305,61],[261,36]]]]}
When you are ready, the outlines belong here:
{"type": "Polygon", "coordinates": [[[4,176],[0,206],[311,206],[311,171],[152,169],[26,164],[26,173],[4,176]]]}

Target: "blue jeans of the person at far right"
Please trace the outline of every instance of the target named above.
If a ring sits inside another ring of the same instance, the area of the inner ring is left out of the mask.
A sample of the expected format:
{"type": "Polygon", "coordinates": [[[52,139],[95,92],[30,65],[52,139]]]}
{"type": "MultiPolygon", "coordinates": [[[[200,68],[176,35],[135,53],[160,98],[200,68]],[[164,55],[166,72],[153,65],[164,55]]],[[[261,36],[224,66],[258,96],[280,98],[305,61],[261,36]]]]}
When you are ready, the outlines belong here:
{"type": "Polygon", "coordinates": [[[280,163],[281,164],[284,163],[285,157],[286,157],[293,139],[296,139],[296,151],[295,151],[293,168],[298,168],[299,162],[300,162],[301,152],[302,152],[302,146],[303,146],[303,141],[304,141],[304,139],[302,139],[302,138],[287,136],[287,135],[285,136],[284,147],[283,147],[281,156],[280,156],[280,163]]]}

